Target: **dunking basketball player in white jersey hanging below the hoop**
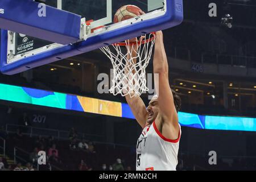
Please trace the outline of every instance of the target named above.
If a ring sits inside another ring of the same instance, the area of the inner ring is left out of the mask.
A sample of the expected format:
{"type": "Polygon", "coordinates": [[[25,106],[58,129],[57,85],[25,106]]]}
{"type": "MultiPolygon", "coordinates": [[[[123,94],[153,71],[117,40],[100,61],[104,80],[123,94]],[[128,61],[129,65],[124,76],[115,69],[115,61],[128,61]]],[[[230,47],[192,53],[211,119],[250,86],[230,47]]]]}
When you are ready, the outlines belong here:
{"type": "MultiPolygon", "coordinates": [[[[134,47],[130,51],[135,54],[137,49],[134,47]]],[[[138,95],[133,98],[126,96],[127,103],[143,129],[137,141],[136,168],[137,171],[175,171],[181,135],[177,111],[181,100],[170,88],[162,31],[156,32],[153,64],[154,73],[159,75],[159,79],[155,80],[159,88],[148,107],[138,95]]]]}

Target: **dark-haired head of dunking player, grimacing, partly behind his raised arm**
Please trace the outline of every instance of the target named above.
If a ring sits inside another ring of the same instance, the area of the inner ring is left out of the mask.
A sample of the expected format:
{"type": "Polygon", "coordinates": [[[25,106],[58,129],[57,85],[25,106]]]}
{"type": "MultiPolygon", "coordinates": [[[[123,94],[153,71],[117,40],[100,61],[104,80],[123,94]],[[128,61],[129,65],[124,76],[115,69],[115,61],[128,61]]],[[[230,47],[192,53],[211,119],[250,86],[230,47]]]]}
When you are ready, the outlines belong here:
{"type": "MultiPolygon", "coordinates": [[[[175,109],[178,112],[181,107],[180,96],[174,90],[172,90],[172,95],[174,97],[175,109]]],[[[152,97],[151,101],[148,104],[147,112],[147,123],[151,124],[152,122],[154,122],[159,113],[158,96],[155,95],[154,97],[152,97]]]]}

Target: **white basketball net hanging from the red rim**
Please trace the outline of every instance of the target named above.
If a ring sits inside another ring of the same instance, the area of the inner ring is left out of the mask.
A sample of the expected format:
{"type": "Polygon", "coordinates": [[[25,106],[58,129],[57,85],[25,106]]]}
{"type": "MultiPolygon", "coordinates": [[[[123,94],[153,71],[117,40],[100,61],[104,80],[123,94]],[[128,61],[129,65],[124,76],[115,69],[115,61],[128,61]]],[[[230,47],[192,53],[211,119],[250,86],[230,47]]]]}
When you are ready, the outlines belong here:
{"type": "Polygon", "coordinates": [[[110,93],[123,97],[141,96],[147,92],[146,68],[155,44],[155,34],[142,36],[137,42],[126,40],[122,44],[102,47],[113,65],[113,80],[110,93]],[[125,49],[123,49],[125,48],[125,49]]]}

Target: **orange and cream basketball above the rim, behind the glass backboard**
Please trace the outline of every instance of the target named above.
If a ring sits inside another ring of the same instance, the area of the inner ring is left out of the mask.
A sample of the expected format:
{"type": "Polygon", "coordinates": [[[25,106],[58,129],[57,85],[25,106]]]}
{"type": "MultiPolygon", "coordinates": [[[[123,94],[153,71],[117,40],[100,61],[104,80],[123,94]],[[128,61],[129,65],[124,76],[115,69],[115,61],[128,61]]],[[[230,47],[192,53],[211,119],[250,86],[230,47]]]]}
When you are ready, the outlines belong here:
{"type": "Polygon", "coordinates": [[[141,15],[142,11],[139,7],[134,5],[126,5],[117,10],[114,16],[114,23],[122,22],[123,20],[134,18],[141,15]]]}

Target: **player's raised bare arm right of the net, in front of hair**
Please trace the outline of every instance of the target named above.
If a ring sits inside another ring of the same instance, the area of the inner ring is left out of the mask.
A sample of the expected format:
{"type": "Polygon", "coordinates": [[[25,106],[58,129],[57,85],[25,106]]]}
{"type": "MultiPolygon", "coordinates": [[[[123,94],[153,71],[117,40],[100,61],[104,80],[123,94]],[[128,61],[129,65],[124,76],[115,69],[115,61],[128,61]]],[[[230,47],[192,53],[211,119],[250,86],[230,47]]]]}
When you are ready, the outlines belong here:
{"type": "MultiPolygon", "coordinates": [[[[179,122],[174,104],[174,96],[169,84],[168,61],[163,43],[162,31],[156,32],[155,53],[154,53],[154,73],[158,79],[158,104],[160,109],[160,119],[162,123],[157,123],[162,127],[162,134],[169,139],[177,139],[179,135],[179,122]]],[[[155,81],[157,84],[157,80],[155,81]]]]}

